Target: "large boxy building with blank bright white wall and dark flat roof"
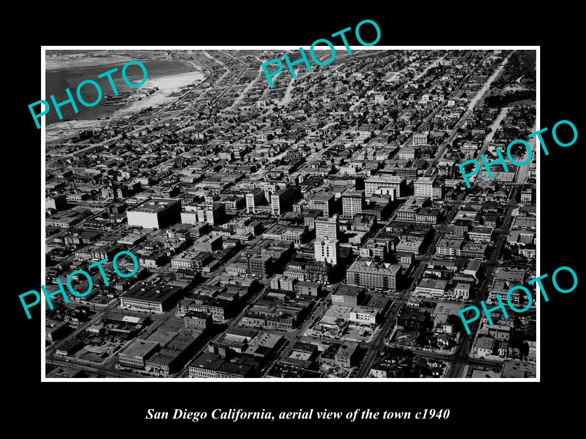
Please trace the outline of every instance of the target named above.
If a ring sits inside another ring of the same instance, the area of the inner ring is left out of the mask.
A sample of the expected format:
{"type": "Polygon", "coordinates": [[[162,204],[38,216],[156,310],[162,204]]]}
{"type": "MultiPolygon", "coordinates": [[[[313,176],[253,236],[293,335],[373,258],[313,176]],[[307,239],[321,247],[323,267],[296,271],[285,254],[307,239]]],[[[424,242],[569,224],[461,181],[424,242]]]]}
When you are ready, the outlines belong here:
{"type": "Polygon", "coordinates": [[[151,198],[126,212],[128,225],[162,229],[181,221],[181,201],[151,198]]]}

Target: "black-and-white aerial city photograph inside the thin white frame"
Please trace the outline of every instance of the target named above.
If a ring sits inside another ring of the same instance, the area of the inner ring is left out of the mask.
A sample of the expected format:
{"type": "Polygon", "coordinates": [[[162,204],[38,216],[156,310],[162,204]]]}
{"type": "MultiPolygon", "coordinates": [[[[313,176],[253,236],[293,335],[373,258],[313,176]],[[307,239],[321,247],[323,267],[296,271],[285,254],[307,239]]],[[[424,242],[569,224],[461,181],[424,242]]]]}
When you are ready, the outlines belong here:
{"type": "Polygon", "coordinates": [[[45,378],[536,378],[536,50],[322,47],[45,51],[45,378]]]}

